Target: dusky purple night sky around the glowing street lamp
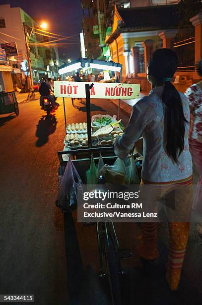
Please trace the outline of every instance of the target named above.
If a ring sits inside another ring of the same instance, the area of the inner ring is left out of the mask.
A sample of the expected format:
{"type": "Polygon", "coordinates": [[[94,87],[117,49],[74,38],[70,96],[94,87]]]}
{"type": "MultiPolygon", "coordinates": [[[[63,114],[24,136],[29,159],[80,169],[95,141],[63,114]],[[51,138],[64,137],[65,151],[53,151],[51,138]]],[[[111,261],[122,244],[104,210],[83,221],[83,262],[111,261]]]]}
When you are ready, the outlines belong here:
{"type": "Polygon", "coordinates": [[[65,36],[77,34],[67,41],[75,44],[60,47],[59,52],[61,55],[65,53],[66,59],[80,57],[79,33],[82,15],[80,0],[0,0],[0,4],[20,6],[34,19],[45,20],[49,25],[48,31],[65,36]]]}

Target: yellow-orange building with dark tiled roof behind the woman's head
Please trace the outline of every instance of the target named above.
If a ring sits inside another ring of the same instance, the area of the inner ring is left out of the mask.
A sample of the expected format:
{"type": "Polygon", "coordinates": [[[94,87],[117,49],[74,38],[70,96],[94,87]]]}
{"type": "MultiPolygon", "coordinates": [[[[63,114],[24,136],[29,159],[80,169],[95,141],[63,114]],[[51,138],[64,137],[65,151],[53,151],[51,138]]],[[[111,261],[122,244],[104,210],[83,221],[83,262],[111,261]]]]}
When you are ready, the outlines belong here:
{"type": "Polygon", "coordinates": [[[176,5],[114,7],[112,33],[106,37],[111,59],[123,65],[122,80],[146,79],[153,50],[171,47],[178,32],[176,5]]]}

